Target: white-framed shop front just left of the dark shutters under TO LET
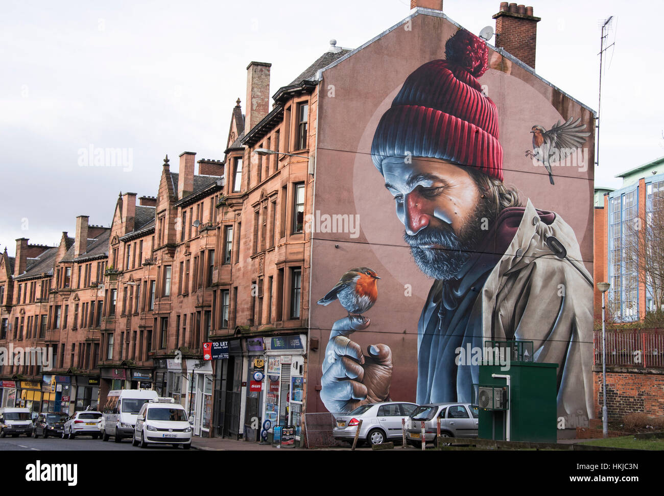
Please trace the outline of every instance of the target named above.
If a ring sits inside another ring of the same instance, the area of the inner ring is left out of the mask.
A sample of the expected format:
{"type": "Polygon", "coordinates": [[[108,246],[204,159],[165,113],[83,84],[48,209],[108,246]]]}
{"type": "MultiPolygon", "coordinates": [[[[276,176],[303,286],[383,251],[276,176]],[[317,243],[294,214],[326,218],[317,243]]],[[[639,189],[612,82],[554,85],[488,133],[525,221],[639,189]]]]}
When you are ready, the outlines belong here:
{"type": "Polygon", "coordinates": [[[208,438],[212,428],[212,363],[187,359],[186,367],[185,408],[194,417],[194,436],[208,438]]]}

